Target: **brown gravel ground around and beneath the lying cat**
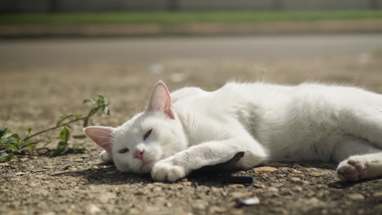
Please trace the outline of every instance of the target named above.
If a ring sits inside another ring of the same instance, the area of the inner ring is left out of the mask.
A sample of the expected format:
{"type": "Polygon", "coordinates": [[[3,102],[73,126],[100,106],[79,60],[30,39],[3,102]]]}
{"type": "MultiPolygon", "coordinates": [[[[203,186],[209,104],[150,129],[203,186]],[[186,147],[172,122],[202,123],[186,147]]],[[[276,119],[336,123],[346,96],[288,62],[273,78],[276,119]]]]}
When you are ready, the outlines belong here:
{"type": "MultiPolygon", "coordinates": [[[[111,115],[95,116],[95,124],[117,126],[144,108],[159,79],[170,90],[186,85],[214,90],[227,80],[288,84],[322,80],[382,93],[378,53],[158,63],[0,65],[0,125],[21,134],[27,127],[46,129],[62,114],[85,113],[89,107],[81,104],[82,99],[102,93],[111,100],[111,115]]],[[[81,135],[81,124],[73,125],[71,132],[81,135]]],[[[46,136],[57,137],[57,133],[46,136]]],[[[272,163],[263,165],[269,168],[223,173],[253,176],[253,184],[223,184],[219,174],[162,183],[101,163],[101,149],[87,138],[71,141],[89,152],[58,157],[32,152],[0,164],[0,214],[382,213],[382,179],[339,182],[334,163],[272,163]],[[240,202],[249,197],[257,197],[259,204],[240,202]]]]}

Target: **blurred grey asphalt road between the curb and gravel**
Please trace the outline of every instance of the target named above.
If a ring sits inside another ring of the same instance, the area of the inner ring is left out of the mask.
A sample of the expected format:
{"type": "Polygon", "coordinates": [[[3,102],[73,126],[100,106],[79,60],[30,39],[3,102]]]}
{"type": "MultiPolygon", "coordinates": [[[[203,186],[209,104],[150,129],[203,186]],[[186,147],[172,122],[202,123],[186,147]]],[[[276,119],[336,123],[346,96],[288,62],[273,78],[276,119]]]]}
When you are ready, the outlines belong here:
{"type": "Polygon", "coordinates": [[[24,39],[0,41],[0,64],[14,66],[155,63],[166,59],[268,60],[382,49],[382,34],[24,39]]]}

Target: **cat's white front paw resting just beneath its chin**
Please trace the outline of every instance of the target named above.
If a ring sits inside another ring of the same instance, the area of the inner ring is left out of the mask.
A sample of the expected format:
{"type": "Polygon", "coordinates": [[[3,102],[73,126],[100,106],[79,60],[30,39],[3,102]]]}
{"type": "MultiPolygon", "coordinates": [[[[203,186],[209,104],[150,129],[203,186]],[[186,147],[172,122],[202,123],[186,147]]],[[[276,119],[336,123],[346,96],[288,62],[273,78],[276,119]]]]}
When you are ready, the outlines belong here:
{"type": "Polygon", "coordinates": [[[159,161],[152,170],[151,176],[157,181],[176,181],[186,176],[186,171],[181,166],[173,165],[170,161],[159,161]]]}

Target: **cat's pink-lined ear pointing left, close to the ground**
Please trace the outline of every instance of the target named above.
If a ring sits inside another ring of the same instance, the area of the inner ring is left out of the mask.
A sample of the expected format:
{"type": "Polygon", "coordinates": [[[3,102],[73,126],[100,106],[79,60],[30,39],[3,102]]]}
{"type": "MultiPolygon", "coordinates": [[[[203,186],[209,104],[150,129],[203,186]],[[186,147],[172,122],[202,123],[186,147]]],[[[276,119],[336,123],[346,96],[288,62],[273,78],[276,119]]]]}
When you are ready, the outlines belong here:
{"type": "Polygon", "coordinates": [[[104,148],[105,151],[112,156],[112,145],[113,145],[113,131],[111,127],[102,126],[90,126],[84,128],[85,134],[91,138],[97,145],[104,148]]]}

